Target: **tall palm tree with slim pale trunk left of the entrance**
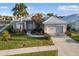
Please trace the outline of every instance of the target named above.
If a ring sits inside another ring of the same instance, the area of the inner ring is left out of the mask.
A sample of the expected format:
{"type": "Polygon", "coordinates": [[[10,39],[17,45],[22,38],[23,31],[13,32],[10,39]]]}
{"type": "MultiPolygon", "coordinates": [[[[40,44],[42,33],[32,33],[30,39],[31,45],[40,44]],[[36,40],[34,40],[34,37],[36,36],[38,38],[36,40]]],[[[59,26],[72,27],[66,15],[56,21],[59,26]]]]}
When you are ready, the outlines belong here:
{"type": "Polygon", "coordinates": [[[23,3],[17,3],[12,9],[13,15],[20,18],[20,31],[22,31],[22,19],[21,17],[27,16],[28,12],[26,11],[27,6],[23,3]]]}

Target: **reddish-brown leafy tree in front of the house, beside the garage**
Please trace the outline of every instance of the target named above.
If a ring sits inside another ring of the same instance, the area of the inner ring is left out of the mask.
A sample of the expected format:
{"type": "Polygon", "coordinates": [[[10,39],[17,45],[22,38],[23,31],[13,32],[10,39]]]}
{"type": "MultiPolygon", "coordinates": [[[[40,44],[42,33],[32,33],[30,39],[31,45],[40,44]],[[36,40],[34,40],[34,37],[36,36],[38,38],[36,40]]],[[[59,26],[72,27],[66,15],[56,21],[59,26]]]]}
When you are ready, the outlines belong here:
{"type": "Polygon", "coordinates": [[[34,23],[36,25],[35,29],[37,31],[40,31],[40,29],[41,29],[41,25],[42,25],[42,22],[43,22],[42,17],[43,17],[42,14],[39,14],[39,13],[32,16],[32,20],[34,21],[34,23]]]}

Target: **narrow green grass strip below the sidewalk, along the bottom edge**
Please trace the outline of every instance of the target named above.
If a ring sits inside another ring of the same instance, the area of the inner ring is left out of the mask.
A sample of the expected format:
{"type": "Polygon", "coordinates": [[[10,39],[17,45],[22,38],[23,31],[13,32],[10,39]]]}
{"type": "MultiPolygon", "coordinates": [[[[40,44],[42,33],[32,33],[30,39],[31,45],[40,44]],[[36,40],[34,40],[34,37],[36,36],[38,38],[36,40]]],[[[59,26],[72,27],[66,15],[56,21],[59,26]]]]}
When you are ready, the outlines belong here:
{"type": "Polygon", "coordinates": [[[24,54],[16,54],[11,56],[57,56],[58,51],[43,51],[43,52],[33,52],[33,53],[24,53],[24,54]]]}

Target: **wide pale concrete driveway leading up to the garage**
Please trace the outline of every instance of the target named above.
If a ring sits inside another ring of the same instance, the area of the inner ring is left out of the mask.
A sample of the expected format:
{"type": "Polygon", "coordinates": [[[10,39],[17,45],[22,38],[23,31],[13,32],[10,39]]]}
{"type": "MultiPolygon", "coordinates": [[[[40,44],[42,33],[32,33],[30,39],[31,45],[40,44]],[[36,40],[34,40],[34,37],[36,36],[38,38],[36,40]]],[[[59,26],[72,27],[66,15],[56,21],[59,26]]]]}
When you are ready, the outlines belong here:
{"type": "Polygon", "coordinates": [[[51,36],[51,39],[58,49],[59,56],[79,56],[79,43],[72,38],[61,35],[51,36]]]}

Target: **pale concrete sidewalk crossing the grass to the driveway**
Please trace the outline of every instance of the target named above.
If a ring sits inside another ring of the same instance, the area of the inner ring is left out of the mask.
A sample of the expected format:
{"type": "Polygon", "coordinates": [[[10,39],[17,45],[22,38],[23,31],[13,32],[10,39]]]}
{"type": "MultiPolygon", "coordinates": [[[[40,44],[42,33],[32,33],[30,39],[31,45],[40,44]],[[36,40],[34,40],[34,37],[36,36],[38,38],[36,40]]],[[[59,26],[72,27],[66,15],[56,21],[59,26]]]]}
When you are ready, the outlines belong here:
{"type": "Polygon", "coordinates": [[[32,52],[40,52],[40,51],[50,51],[50,50],[57,50],[57,49],[54,45],[50,45],[50,46],[29,47],[29,48],[19,48],[19,49],[10,49],[10,50],[0,50],[0,56],[21,54],[21,53],[32,53],[32,52]]]}

